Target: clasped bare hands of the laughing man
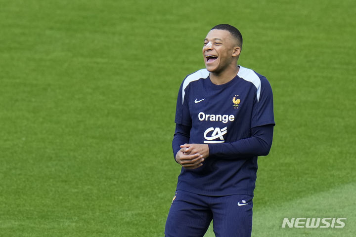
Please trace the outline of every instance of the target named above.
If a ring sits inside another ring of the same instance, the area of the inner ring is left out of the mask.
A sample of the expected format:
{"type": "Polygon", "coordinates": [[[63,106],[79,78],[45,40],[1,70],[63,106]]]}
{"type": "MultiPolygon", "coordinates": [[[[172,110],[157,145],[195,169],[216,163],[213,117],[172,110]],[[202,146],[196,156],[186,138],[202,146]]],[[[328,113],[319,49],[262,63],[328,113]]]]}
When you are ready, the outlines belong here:
{"type": "Polygon", "coordinates": [[[196,169],[209,156],[207,144],[184,144],[176,155],[177,162],[186,169],[196,169]]]}

